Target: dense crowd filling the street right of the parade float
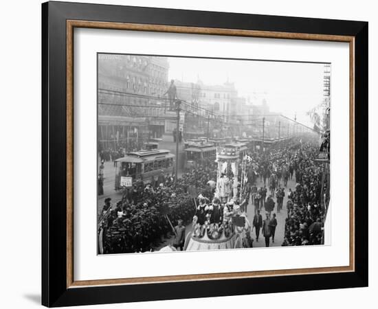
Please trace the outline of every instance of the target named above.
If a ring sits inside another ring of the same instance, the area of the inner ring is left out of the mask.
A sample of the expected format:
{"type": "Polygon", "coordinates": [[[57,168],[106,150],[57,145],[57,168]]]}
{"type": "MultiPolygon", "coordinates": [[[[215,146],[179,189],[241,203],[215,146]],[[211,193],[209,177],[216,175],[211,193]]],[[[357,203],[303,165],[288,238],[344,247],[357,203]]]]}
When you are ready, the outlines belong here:
{"type": "MultiPolygon", "coordinates": [[[[282,246],[299,246],[322,244],[324,235],[324,205],[322,205],[322,174],[323,165],[315,164],[318,146],[305,141],[294,141],[285,147],[271,147],[263,155],[261,152],[249,154],[254,158],[249,163],[248,183],[252,190],[252,203],[255,207],[256,240],[263,228],[260,209],[267,212],[268,229],[276,229],[276,223],[271,224],[271,212],[280,212],[283,208],[285,188],[289,179],[296,181],[294,190],[287,194],[287,218],[285,220],[285,238],[282,246]],[[254,183],[257,177],[264,185],[257,188],[254,183]],[[266,187],[268,185],[269,189],[266,187]],[[276,203],[274,202],[276,198],[276,203]]],[[[323,192],[326,192],[326,182],[323,192]]],[[[329,194],[329,192],[328,192],[329,194]]],[[[329,196],[323,196],[327,199],[329,196]]],[[[276,215],[274,214],[274,217],[276,215]]],[[[274,218],[275,219],[275,218],[274,218]]],[[[267,231],[265,231],[267,233],[267,231]]],[[[269,233],[273,236],[274,232],[269,233]]],[[[269,246],[269,243],[267,244],[269,246]]]]}

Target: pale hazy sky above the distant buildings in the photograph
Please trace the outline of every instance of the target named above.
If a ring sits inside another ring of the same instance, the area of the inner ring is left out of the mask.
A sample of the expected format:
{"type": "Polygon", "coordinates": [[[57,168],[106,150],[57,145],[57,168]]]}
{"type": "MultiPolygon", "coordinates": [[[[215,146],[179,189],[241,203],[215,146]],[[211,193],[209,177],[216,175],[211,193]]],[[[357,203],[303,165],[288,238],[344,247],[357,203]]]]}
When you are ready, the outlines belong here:
{"type": "Polygon", "coordinates": [[[311,124],[306,112],[322,103],[324,65],[296,62],[168,58],[169,79],[204,84],[234,82],[239,96],[254,104],[265,98],[270,111],[311,124]]]}

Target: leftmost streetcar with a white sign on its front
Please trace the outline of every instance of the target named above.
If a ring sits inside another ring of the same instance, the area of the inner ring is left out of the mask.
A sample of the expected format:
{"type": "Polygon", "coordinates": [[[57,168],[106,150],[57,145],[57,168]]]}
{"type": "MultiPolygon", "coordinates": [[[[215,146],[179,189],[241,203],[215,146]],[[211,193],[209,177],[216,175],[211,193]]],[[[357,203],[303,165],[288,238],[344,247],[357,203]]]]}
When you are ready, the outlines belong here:
{"type": "Polygon", "coordinates": [[[162,172],[173,172],[175,155],[170,150],[153,149],[129,152],[125,157],[115,160],[116,191],[122,187],[131,187],[135,181],[150,183],[152,177],[162,172]]]}

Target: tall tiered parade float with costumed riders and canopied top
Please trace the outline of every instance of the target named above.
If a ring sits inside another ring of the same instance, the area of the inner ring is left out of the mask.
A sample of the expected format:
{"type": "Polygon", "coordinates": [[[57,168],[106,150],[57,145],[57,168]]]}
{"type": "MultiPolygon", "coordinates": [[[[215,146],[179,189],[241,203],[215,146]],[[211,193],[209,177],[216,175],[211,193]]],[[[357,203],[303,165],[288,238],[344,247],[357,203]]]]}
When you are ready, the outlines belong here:
{"type": "Polygon", "coordinates": [[[216,163],[214,200],[210,203],[199,196],[185,251],[252,247],[251,224],[243,212],[243,203],[249,199],[244,186],[245,158],[241,159],[238,148],[224,145],[216,151],[216,163]]]}

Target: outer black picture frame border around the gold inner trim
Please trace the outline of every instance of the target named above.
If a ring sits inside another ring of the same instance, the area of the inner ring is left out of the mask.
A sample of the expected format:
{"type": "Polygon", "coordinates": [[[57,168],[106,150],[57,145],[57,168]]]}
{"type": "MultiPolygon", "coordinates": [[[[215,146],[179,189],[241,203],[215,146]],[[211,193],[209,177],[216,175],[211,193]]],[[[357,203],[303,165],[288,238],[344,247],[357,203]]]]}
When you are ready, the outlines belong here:
{"type": "Polygon", "coordinates": [[[75,306],[368,286],[368,23],[119,5],[42,4],[42,304],[75,306]],[[355,38],[355,271],[67,288],[67,20],[355,38]],[[300,276],[300,277],[299,277],[300,276]]]}

